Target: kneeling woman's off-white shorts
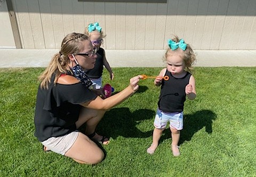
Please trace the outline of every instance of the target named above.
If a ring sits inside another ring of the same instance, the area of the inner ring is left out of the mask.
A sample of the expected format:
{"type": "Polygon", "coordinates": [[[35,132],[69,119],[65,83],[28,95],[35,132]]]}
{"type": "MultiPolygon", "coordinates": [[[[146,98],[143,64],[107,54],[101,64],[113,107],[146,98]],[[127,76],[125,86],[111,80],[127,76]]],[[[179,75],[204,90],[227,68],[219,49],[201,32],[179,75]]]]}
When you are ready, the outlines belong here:
{"type": "Polygon", "coordinates": [[[62,137],[51,137],[43,141],[42,144],[54,153],[65,155],[67,151],[74,145],[78,134],[78,131],[73,131],[62,137]]]}

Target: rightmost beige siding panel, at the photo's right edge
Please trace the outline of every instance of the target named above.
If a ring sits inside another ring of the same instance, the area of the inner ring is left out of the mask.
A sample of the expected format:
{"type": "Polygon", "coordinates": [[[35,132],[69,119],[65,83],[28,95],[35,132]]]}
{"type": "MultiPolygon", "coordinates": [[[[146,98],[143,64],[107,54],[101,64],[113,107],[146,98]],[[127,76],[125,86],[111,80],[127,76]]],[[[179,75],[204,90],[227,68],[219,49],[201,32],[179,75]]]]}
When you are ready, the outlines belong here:
{"type": "Polygon", "coordinates": [[[247,43],[246,43],[246,49],[256,49],[256,19],[255,19],[255,12],[256,9],[256,1],[251,0],[249,2],[247,14],[250,15],[250,34],[249,38],[247,38],[247,43]]]}

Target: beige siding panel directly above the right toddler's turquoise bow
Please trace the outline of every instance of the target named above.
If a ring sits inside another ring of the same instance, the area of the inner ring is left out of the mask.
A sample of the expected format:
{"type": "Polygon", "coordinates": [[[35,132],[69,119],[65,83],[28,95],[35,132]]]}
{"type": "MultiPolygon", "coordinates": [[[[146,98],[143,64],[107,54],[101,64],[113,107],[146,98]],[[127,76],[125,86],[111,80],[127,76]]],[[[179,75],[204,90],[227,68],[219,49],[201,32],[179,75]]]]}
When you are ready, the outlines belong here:
{"type": "Polygon", "coordinates": [[[175,22],[175,30],[174,30],[175,35],[179,36],[180,38],[184,37],[187,11],[188,11],[188,1],[180,0],[178,4],[177,19],[175,22]]]}

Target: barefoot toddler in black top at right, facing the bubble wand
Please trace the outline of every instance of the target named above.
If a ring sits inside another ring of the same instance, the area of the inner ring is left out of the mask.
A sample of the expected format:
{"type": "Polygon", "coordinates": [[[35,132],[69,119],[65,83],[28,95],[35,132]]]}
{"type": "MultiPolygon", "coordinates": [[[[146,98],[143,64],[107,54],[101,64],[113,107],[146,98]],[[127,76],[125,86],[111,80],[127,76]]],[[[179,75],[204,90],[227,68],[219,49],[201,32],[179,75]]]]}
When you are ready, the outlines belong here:
{"type": "Polygon", "coordinates": [[[161,86],[161,94],[154,121],[153,142],[147,153],[154,154],[167,122],[170,122],[172,153],[173,156],[179,156],[178,143],[180,130],[183,129],[184,102],[186,96],[188,99],[196,98],[195,78],[190,73],[196,57],[190,45],[175,36],[172,40],[169,39],[169,48],[166,50],[164,60],[166,68],[160,71],[154,80],[155,86],[161,86]],[[165,75],[169,80],[162,79],[165,75]]]}

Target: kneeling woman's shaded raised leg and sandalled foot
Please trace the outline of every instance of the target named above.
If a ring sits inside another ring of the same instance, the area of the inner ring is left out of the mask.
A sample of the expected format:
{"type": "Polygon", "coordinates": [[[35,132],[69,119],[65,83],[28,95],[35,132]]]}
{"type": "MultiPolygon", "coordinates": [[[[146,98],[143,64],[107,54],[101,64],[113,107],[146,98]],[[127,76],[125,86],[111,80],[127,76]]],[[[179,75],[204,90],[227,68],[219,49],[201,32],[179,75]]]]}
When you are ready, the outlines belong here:
{"type": "MultiPolygon", "coordinates": [[[[85,134],[92,134],[102,117],[104,116],[105,111],[101,110],[96,110],[96,109],[89,109],[89,108],[82,108],[81,112],[79,114],[79,118],[76,121],[76,127],[79,128],[81,127],[84,123],[86,123],[86,129],[85,129],[85,134]]],[[[93,139],[99,141],[103,137],[100,136],[99,134],[95,134],[93,139]]],[[[107,145],[109,141],[106,138],[106,141],[103,142],[104,145],[107,145]]]]}

